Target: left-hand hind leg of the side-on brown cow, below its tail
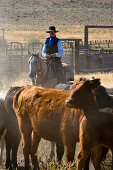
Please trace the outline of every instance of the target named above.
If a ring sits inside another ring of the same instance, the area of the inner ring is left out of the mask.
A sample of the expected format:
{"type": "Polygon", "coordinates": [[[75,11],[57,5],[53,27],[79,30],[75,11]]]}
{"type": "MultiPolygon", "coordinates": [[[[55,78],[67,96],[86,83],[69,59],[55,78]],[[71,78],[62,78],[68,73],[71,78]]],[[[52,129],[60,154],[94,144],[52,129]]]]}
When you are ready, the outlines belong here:
{"type": "Polygon", "coordinates": [[[18,117],[18,125],[22,136],[25,170],[29,170],[29,155],[31,154],[32,127],[29,119],[18,117]]]}

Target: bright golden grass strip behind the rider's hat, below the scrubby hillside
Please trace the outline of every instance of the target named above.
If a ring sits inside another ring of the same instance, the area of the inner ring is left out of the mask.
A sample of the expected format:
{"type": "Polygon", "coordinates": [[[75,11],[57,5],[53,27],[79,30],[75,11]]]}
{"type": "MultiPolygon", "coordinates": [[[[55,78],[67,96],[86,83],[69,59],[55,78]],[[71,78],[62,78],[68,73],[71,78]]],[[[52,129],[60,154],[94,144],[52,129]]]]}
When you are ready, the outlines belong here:
{"type": "MultiPolygon", "coordinates": [[[[34,29],[34,28],[33,28],[34,29]]],[[[28,42],[32,37],[36,37],[40,41],[44,41],[47,36],[46,30],[48,27],[39,27],[37,30],[13,30],[5,31],[5,38],[7,42],[18,41],[18,42],[28,42]]],[[[84,41],[84,25],[73,25],[73,26],[59,26],[57,27],[59,33],[57,36],[59,38],[80,38],[84,41]]],[[[111,40],[113,39],[113,29],[89,29],[89,41],[90,40],[111,40]]]]}

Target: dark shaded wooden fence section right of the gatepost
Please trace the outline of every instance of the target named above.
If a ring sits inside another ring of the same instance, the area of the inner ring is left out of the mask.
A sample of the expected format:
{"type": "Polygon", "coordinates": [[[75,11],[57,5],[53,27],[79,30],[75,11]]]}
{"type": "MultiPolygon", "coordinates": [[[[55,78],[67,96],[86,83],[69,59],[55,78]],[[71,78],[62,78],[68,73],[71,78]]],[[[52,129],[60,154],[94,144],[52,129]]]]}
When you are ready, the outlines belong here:
{"type": "Polygon", "coordinates": [[[80,51],[79,71],[111,71],[113,70],[113,49],[83,49],[80,51]]]}

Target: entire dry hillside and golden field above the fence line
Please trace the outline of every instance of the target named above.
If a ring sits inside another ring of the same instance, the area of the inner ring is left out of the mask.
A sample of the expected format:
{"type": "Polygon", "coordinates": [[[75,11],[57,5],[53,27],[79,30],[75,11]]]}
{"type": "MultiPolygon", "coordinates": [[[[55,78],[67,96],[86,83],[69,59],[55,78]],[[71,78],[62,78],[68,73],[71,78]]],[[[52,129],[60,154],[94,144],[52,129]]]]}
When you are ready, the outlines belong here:
{"type": "MultiPolygon", "coordinates": [[[[0,5],[0,28],[7,41],[44,40],[56,25],[60,38],[84,39],[84,25],[112,25],[111,0],[5,0],[0,5]]],[[[113,29],[90,29],[89,40],[113,39],[113,29]]]]}

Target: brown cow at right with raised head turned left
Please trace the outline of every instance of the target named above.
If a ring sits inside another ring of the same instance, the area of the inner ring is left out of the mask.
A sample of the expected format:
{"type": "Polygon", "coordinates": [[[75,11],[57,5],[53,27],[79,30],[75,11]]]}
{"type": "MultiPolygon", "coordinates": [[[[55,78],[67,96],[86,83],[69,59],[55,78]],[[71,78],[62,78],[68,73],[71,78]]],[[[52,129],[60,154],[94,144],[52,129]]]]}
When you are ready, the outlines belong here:
{"type": "Polygon", "coordinates": [[[80,78],[71,87],[70,96],[66,105],[71,108],[81,109],[83,117],[79,129],[79,153],[77,170],[82,170],[90,151],[93,150],[93,164],[96,170],[99,167],[97,153],[100,146],[108,147],[113,152],[113,114],[98,111],[94,96],[94,89],[100,85],[100,79],[88,80],[80,78]]]}

